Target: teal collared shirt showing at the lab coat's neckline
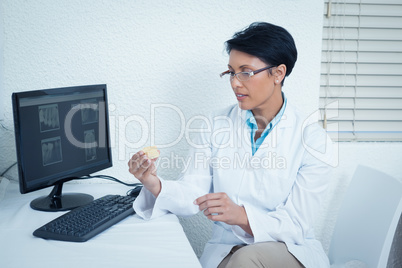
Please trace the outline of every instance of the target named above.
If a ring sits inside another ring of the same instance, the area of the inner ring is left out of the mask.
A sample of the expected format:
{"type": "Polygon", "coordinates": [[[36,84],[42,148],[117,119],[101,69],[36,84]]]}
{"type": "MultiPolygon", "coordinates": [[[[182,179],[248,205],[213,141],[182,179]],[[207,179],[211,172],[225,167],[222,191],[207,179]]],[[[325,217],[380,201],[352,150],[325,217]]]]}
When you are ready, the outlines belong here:
{"type": "Polygon", "coordinates": [[[253,155],[257,152],[258,148],[260,148],[264,139],[268,136],[269,133],[271,133],[272,129],[281,120],[282,115],[285,112],[286,103],[287,103],[287,98],[283,92],[282,92],[282,98],[283,98],[283,105],[282,105],[282,108],[280,109],[279,113],[274,117],[274,119],[271,120],[271,122],[269,122],[269,124],[265,127],[264,131],[262,132],[261,137],[259,137],[256,141],[254,141],[254,136],[258,130],[257,121],[255,120],[253,112],[251,110],[247,110],[246,122],[247,122],[248,127],[251,130],[250,131],[250,133],[251,133],[251,149],[252,149],[253,155]]]}

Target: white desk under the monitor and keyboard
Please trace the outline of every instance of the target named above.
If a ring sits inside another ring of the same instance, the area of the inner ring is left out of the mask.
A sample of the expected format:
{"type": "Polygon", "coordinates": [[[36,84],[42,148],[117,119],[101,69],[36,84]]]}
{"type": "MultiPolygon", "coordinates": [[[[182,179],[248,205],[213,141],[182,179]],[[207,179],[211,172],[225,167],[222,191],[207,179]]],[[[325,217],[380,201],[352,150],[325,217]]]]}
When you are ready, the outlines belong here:
{"type": "MultiPolygon", "coordinates": [[[[34,237],[32,232],[65,212],[41,212],[31,200],[51,188],[20,194],[18,183],[0,182],[0,267],[201,267],[174,215],[152,221],[129,216],[84,243],[34,237]]],[[[130,189],[117,183],[67,183],[63,192],[125,195],[130,189]]]]}

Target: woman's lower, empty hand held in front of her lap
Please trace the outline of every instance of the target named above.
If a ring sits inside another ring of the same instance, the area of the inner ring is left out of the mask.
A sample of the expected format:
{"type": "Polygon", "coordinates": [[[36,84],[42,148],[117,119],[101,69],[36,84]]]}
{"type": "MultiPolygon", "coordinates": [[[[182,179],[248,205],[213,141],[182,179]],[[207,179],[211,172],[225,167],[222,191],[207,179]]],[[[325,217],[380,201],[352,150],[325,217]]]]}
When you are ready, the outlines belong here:
{"type": "Polygon", "coordinates": [[[212,221],[221,221],[229,225],[238,225],[252,235],[244,207],[235,204],[226,193],[210,193],[194,201],[204,215],[212,221]]]}

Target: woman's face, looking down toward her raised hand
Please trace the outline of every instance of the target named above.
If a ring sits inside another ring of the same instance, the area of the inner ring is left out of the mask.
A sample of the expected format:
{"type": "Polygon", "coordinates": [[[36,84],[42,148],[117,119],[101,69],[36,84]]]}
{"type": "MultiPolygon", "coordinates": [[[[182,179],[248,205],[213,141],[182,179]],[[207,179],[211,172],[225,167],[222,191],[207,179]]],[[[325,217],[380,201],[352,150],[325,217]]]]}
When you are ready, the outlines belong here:
{"type": "MultiPolygon", "coordinates": [[[[228,66],[230,72],[238,73],[252,72],[268,65],[255,56],[232,49],[228,66]]],[[[275,73],[275,68],[271,70],[275,73]]],[[[236,76],[233,77],[230,83],[240,109],[264,112],[267,109],[270,110],[270,107],[277,106],[281,86],[275,79],[269,70],[255,74],[248,81],[239,81],[236,76]]],[[[279,100],[281,99],[282,97],[279,100]]]]}

